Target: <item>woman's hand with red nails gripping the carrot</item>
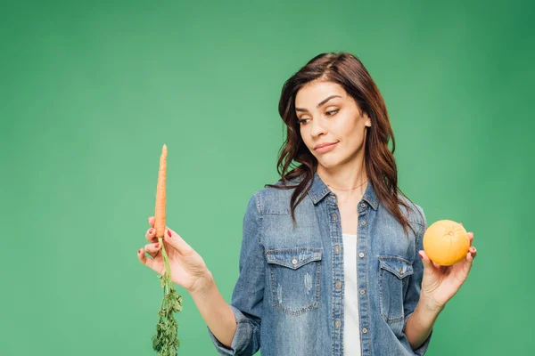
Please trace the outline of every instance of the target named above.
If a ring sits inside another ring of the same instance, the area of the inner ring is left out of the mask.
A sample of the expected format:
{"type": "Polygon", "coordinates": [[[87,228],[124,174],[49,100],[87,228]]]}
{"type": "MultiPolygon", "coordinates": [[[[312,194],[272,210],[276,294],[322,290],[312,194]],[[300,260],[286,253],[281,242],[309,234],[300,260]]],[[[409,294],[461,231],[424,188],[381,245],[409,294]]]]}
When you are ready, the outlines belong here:
{"type": "MultiPolygon", "coordinates": [[[[165,268],[161,254],[161,245],[158,242],[158,238],[156,238],[154,221],[154,216],[149,217],[151,229],[145,234],[145,238],[149,241],[149,244],[137,251],[137,258],[145,266],[163,275],[165,268]],[[152,258],[148,258],[145,252],[151,255],[152,258]]],[[[172,281],[178,286],[185,287],[190,293],[202,288],[210,279],[211,274],[201,255],[197,254],[177,232],[172,231],[167,226],[162,240],[169,257],[172,281]]]]}

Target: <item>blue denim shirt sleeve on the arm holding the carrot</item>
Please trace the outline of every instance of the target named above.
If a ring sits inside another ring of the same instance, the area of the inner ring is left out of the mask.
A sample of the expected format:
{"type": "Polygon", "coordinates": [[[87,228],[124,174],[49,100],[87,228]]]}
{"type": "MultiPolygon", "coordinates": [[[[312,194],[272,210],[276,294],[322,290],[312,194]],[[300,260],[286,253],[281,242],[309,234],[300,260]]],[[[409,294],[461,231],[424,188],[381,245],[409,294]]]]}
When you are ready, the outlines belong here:
{"type": "Polygon", "coordinates": [[[222,355],[253,355],[260,348],[260,322],[262,317],[265,259],[261,245],[261,215],[259,192],[249,200],[243,217],[243,239],[240,250],[239,277],[235,284],[230,306],[235,313],[236,332],[229,347],[221,344],[208,329],[210,338],[222,355]]]}

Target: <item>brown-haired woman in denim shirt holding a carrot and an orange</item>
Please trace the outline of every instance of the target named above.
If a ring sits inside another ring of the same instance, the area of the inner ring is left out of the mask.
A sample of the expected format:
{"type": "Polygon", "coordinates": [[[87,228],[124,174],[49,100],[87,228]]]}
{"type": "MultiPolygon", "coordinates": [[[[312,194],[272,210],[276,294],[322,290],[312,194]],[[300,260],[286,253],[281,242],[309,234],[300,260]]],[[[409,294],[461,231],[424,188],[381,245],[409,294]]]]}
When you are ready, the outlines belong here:
{"type": "MultiPolygon", "coordinates": [[[[249,201],[232,303],[168,228],[173,281],[192,295],[221,354],[260,345],[264,356],[424,354],[475,248],[450,267],[425,255],[424,212],[398,188],[383,97],[355,56],[309,61],[284,84],[279,112],[282,179],[249,201]],[[289,171],[292,161],[300,165],[289,171]]],[[[153,229],[146,238],[138,257],[161,273],[153,229]]]]}

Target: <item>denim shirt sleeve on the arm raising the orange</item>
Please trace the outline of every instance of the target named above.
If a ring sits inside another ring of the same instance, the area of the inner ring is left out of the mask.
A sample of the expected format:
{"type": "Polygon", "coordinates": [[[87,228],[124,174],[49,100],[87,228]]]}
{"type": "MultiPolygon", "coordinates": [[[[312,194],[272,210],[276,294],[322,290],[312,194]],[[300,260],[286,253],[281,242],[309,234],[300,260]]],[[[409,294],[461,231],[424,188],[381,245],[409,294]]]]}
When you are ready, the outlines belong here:
{"type": "MultiPolygon", "coordinates": [[[[424,210],[420,206],[416,206],[416,208],[419,211],[419,214],[422,214],[423,218],[423,226],[421,227],[420,231],[417,231],[416,233],[416,256],[413,263],[413,271],[414,273],[409,277],[408,279],[408,287],[407,287],[407,294],[405,295],[405,300],[403,303],[403,308],[405,312],[405,321],[403,324],[403,332],[405,332],[405,328],[407,327],[407,320],[408,317],[415,312],[416,304],[420,300],[420,291],[422,289],[422,278],[424,276],[424,263],[422,263],[422,259],[418,256],[418,251],[424,249],[423,239],[424,239],[424,232],[427,230],[427,221],[425,219],[424,210]]],[[[424,353],[427,351],[427,348],[429,347],[429,343],[431,342],[431,334],[425,339],[424,344],[422,344],[420,347],[418,347],[416,350],[413,350],[415,355],[424,355],[424,353]]]]}

